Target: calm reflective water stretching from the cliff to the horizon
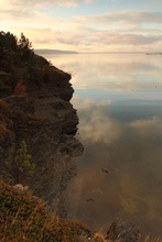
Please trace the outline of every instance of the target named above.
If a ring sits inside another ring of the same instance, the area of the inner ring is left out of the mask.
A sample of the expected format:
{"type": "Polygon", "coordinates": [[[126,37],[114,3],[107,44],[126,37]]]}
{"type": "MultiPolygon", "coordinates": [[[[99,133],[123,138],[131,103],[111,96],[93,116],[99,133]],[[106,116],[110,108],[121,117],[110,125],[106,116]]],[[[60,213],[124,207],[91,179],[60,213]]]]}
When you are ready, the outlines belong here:
{"type": "Polygon", "coordinates": [[[162,235],[162,55],[57,55],[73,75],[85,147],[66,190],[68,218],[107,230],[117,217],[162,235]]]}

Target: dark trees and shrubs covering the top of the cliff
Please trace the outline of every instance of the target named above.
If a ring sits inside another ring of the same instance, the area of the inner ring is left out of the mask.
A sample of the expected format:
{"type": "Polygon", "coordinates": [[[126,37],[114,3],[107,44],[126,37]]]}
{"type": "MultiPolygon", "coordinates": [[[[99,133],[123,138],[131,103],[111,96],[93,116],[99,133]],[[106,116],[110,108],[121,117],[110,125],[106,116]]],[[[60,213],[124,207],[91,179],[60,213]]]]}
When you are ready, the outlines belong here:
{"type": "MultiPolygon", "coordinates": [[[[0,32],[0,96],[26,94],[29,81],[42,85],[48,76],[64,75],[51,62],[34,54],[32,43],[21,33],[20,38],[10,32],[0,32]],[[13,92],[12,92],[13,94],[13,92]]],[[[51,76],[51,78],[52,78],[51,76]]]]}

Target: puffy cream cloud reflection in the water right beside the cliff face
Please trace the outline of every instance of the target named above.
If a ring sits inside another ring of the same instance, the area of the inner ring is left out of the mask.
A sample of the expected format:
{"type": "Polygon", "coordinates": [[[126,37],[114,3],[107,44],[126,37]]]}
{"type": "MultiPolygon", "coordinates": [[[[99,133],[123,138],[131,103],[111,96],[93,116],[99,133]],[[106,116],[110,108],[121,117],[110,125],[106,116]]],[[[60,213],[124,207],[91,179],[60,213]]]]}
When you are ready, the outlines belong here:
{"type": "Polygon", "coordinates": [[[83,118],[79,120],[79,133],[84,134],[83,141],[86,141],[88,144],[99,142],[110,145],[121,136],[121,124],[105,112],[105,108],[108,111],[112,105],[110,99],[96,101],[91,98],[82,99],[75,96],[73,103],[82,112],[83,118]]]}

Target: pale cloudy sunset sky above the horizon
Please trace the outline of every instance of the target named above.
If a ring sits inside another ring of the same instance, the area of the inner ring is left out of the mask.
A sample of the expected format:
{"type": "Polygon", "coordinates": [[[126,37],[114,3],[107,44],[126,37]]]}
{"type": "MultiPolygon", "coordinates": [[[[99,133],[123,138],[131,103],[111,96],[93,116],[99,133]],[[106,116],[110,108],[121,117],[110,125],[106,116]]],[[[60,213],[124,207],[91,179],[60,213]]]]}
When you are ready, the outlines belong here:
{"type": "Polygon", "coordinates": [[[35,50],[162,52],[162,0],[0,0],[0,30],[35,50]]]}

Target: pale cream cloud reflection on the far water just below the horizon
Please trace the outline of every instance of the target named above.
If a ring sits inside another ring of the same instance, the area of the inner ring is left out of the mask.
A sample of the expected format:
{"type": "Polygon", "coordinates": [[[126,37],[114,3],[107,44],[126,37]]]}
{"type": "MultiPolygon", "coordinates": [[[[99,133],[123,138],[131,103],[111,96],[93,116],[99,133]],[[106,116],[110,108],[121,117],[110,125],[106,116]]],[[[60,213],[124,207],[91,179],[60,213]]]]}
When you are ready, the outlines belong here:
{"type": "MultiPolygon", "coordinates": [[[[111,94],[129,94],[134,98],[138,96],[139,99],[137,91],[142,90],[147,95],[145,90],[152,88],[156,88],[156,91],[162,90],[161,56],[154,61],[147,55],[85,54],[68,56],[68,62],[66,56],[53,57],[51,61],[60,68],[72,73],[75,94],[77,89],[97,89],[111,94]]],[[[90,92],[89,95],[91,96],[90,92]]]]}

